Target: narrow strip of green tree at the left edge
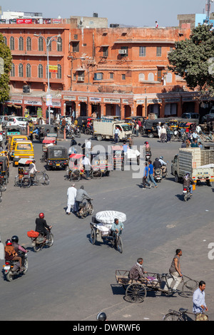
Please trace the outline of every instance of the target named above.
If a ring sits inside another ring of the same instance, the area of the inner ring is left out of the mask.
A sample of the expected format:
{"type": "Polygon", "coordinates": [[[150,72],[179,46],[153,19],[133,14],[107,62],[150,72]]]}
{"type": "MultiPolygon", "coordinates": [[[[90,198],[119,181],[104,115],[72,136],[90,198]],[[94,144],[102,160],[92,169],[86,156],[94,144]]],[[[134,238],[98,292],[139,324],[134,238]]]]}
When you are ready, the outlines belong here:
{"type": "Polygon", "coordinates": [[[0,103],[9,100],[10,71],[12,65],[11,51],[4,43],[4,37],[0,33],[0,103]]]}

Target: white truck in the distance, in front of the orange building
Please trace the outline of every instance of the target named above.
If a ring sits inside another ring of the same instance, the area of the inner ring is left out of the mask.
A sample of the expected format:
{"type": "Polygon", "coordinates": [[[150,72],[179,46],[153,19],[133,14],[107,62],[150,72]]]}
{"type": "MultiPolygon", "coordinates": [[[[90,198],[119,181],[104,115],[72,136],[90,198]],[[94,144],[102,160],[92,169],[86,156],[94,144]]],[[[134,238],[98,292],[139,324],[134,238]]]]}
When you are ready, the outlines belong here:
{"type": "Polygon", "coordinates": [[[131,127],[128,123],[116,120],[93,120],[93,136],[97,140],[114,138],[116,127],[120,130],[119,140],[127,140],[132,134],[131,127]]]}

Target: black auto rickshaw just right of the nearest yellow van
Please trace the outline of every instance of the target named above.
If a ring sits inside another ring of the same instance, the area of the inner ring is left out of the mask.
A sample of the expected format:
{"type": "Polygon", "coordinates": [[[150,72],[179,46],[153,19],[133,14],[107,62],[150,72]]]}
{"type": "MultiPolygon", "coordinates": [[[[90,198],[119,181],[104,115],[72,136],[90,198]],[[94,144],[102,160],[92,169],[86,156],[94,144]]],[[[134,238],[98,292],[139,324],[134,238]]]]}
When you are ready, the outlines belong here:
{"type": "Polygon", "coordinates": [[[65,169],[68,165],[68,150],[60,145],[49,146],[47,150],[46,163],[48,169],[65,169]]]}

